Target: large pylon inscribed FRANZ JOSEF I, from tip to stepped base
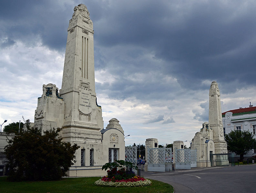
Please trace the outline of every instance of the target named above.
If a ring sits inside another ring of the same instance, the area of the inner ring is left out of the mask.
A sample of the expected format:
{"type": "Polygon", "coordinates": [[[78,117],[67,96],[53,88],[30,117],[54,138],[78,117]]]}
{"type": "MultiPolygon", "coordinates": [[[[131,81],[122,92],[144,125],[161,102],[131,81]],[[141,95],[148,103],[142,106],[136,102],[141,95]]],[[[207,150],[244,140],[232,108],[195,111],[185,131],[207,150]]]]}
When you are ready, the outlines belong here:
{"type": "Polygon", "coordinates": [[[77,143],[81,148],[84,144],[100,145],[103,119],[95,92],[94,30],[85,5],[75,6],[67,32],[60,90],[60,95],[65,101],[62,138],[63,141],[77,143]]]}

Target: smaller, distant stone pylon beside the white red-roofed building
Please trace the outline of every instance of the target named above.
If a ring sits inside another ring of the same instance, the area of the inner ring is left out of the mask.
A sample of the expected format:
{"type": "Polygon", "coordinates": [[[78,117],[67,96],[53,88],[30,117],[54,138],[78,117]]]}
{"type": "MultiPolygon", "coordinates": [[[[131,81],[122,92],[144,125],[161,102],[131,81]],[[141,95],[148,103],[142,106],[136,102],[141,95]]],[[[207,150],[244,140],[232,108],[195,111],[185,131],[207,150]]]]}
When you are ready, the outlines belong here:
{"type": "Polygon", "coordinates": [[[228,153],[227,143],[224,140],[222,115],[220,106],[220,90],[217,82],[213,81],[209,92],[209,123],[213,130],[215,153],[228,153]]]}

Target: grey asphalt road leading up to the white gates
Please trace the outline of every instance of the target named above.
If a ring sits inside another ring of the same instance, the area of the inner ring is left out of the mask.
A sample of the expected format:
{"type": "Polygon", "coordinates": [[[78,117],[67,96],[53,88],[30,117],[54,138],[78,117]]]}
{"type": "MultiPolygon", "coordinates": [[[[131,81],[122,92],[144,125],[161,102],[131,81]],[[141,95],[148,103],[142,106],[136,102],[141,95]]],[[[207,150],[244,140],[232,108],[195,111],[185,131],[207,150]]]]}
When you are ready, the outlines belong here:
{"type": "Polygon", "coordinates": [[[141,172],[141,175],[172,185],[175,193],[256,193],[256,165],[141,172]]]}

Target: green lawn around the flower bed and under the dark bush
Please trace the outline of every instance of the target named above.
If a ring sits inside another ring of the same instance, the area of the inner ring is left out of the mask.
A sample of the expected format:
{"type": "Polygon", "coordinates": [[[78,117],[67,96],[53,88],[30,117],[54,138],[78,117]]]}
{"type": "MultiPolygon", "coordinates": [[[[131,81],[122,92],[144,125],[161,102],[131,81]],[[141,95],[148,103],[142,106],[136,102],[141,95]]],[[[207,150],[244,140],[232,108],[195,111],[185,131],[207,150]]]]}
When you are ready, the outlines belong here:
{"type": "Polygon", "coordinates": [[[10,182],[7,177],[0,177],[1,193],[134,193],[134,192],[150,192],[150,193],[173,193],[171,185],[151,180],[150,186],[116,188],[116,187],[100,187],[95,186],[94,182],[99,177],[90,178],[63,178],[59,181],[22,181],[10,182]]]}

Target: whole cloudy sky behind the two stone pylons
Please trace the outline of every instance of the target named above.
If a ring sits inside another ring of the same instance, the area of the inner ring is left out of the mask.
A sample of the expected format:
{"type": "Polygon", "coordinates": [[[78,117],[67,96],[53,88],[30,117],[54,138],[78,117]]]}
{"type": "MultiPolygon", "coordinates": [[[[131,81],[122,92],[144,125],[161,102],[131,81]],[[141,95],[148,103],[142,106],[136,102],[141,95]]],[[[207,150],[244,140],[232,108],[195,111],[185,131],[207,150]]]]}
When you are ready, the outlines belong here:
{"type": "Polygon", "coordinates": [[[0,124],[34,122],[42,85],[61,88],[68,22],[81,2],[94,23],[104,127],[117,118],[126,145],[188,146],[208,121],[213,80],[222,112],[256,106],[254,0],[1,0],[0,124]]]}

